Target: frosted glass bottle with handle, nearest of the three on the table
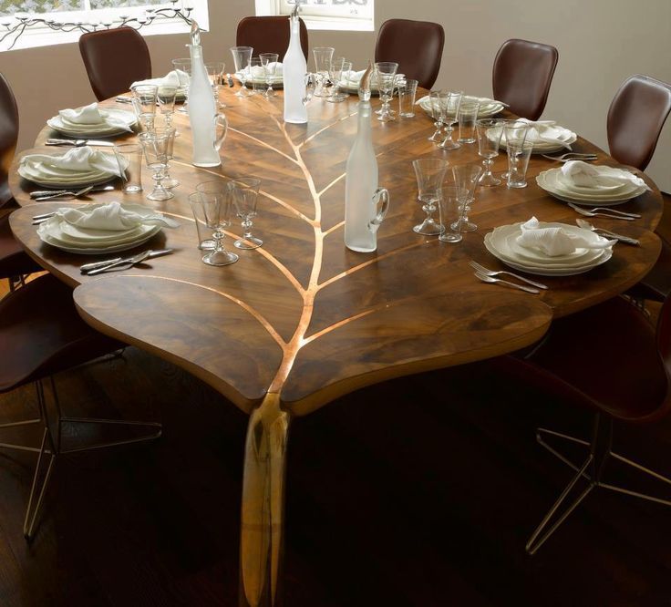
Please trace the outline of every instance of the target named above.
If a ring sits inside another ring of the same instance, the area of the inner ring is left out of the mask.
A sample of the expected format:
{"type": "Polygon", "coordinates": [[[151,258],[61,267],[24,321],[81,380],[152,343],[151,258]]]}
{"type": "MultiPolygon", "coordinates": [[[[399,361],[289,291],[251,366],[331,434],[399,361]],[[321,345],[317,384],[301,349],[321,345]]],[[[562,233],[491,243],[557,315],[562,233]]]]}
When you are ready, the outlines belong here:
{"type": "Polygon", "coordinates": [[[377,187],[377,159],[371,135],[370,71],[361,78],[356,139],[346,164],[345,244],[356,252],[377,249],[377,228],[387,215],[389,193],[377,187]]]}

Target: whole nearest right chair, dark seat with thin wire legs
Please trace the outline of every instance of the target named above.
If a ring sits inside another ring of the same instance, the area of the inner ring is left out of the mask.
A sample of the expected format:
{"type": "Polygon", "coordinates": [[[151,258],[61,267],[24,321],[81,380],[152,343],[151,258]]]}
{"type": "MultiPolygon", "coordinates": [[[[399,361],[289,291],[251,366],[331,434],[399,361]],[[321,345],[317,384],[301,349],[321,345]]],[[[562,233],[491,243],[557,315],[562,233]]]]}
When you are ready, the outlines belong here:
{"type": "Polygon", "coordinates": [[[654,424],[671,410],[671,298],[666,298],[656,327],[638,307],[615,297],[553,321],[550,332],[530,355],[504,356],[495,364],[511,382],[511,394],[535,389],[541,393],[538,402],[550,400],[594,412],[589,440],[545,428],[537,430],[538,442],[572,468],[574,475],[533,532],[526,546],[529,553],[538,550],[594,489],[671,506],[669,499],[628,489],[606,478],[606,464],[625,465],[671,489],[671,479],[613,448],[614,421],[654,424]],[[574,463],[558,447],[562,442],[585,450],[585,459],[574,463]],[[576,489],[581,484],[582,489],[576,489]],[[569,501],[572,491],[577,497],[569,501]]]}

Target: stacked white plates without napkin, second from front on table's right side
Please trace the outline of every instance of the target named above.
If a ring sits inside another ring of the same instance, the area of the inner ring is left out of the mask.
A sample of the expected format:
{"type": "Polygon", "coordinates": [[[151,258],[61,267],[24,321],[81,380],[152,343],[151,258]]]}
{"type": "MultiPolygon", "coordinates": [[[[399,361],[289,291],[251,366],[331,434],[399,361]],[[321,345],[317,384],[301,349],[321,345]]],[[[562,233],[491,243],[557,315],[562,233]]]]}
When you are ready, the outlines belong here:
{"type": "MultiPolygon", "coordinates": [[[[536,177],[536,183],[542,190],[547,191],[554,198],[564,202],[574,202],[585,206],[612,207],[622,204],[636,196],[640,196],[647,190],[645,184],[635,183],[626,179],[628,171],[624,169],[613,169],[618,171],[625,179],[620,183],[612,185],[579,186],[573,180],[567,178],[561,169],[544,170],[536,177]]],[[[615,173],[617,174],[617,173],[615,173]]],[[[631,174],[631,173],[628,173],[631,174]]]]}

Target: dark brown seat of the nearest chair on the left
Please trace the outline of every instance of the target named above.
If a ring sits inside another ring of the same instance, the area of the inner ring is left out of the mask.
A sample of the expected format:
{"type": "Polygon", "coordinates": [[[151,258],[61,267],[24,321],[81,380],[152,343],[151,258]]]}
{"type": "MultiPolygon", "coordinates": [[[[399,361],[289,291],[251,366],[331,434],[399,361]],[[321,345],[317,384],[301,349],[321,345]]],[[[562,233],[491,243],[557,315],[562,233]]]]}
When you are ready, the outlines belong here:
{"type": "Polygon", "coordinates": [[[108,354],[122,345],[77,314],[72,290],[51,274],[0,301],[0,392],[108,354]]]}

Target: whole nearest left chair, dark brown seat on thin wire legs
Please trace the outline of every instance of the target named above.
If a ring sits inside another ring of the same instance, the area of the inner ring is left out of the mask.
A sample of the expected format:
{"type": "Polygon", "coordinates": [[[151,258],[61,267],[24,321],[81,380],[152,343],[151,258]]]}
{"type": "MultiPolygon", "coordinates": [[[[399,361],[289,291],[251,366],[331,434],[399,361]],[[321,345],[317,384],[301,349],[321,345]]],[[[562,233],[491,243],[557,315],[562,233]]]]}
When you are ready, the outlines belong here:
{"type": "Polygon", "coordinates": [[[15,431],[17,427],[38,424],[42,427],[39,447],[0,442],[0,448],[33,451],[37,465],[24,520],[24,535],[31,540],[36,530],[37,515],[58,456],[94,448],[114,447],[160,437],[160,424],[88,417],[67,417],[58,401],[54,376],[61,371],[82,365],[101,355],[118,350],[119,344],[84,323],[77,314],[72,289],[51,274],[26,283],[0,300],[0,394],[35,383],[37,417],[0,425],[0,430],[15,431]],[[45,380],[50,380],[52,412],[46,402],[45,380]],[[54,413],[55,410],[55,413],[54,413]],[[133,427],[130,437],[104,443],[82,444],[73,437],[88,436],[83,427],[102,425],[133,427]],[[76,427],[77,432],[66,432],[76,427]],[[143,429],[141,433],[138,430],[143,429]]]}

